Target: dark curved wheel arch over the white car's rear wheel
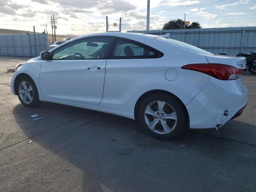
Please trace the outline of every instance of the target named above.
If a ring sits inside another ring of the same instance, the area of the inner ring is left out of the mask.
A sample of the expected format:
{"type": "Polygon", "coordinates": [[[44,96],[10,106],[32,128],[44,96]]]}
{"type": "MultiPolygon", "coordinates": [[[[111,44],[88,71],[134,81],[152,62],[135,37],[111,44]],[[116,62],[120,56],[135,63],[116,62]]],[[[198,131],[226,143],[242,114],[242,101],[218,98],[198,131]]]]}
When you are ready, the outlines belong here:
{"type": "Polygon", "coordinates": [[[150,90],[150,91],[145,92],[144,94],[142,94],[140,96],[140,98],[138,98],[138,100],[137,100],[137,102],[135,104],[135,107],[134,107],[134,118],[135,118],[135,120],[138,120],[138,111],[139,111],[139,108],[140,108],[140,104],[142,103],[142,101],[146,97],[148,97],[148,96],[150,96],[152,94],[167,94],[169,96],[172,96],[172,97],[176,98],[180,102],[180,104],[182,105],[182,108],[184,109],[184,111],[186,113],[186,122],[187,122],[187,126],[189,127],[189,125],[190,125],[189,115],[188,115],[188,110],[187,110],[185,104],[176,95],[174,95],[171,92],[168,92],[166,90],[158,90],[158,89],[156,89],[156,90],[150,90]]]}

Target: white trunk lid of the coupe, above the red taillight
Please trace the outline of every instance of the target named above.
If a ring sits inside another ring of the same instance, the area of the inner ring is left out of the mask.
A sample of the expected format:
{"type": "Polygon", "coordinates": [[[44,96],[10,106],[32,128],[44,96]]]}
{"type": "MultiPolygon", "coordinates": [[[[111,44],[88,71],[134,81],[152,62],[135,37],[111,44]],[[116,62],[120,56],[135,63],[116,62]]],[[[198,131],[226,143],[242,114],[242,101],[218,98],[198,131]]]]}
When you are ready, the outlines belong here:
{"type": "Polygon", "coordinates": [[[246,69],[245,57],[233,57],[227,55],[206,55],[206,59],[209,63],[225,64],[240,69],[246,69]]]}

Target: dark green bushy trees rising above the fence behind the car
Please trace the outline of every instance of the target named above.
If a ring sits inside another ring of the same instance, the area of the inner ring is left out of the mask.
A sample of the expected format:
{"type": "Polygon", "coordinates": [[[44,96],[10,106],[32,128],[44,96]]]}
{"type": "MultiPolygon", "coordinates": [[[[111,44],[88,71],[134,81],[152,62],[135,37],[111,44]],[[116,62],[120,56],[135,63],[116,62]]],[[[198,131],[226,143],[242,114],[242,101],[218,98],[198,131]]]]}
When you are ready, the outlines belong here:
{"type": "MultiPolygon", "coordinates": [[[[190,25],[186,25],[186,29],[200,29],[200,23],[192,22],[190,25]]],[[[174,19],[164,24],[162,29],[184,29],[184,20],[174,19]]]]}

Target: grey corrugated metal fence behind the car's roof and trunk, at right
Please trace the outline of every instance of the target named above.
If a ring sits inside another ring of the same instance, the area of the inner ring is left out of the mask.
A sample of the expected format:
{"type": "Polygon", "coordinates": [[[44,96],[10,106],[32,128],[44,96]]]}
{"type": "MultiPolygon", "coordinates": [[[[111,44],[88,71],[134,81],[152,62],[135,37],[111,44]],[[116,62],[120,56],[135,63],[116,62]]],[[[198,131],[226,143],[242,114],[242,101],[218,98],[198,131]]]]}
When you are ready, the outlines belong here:
{"type": "Polygon", "coordinates": [[[214,54],[226,53],[234,56],[240,52],[256,52],[256,27],[228,27],[206,29],[174,29],[127,31],[162,35],[170,33],[170,38],[197,46],[214,54]]]}

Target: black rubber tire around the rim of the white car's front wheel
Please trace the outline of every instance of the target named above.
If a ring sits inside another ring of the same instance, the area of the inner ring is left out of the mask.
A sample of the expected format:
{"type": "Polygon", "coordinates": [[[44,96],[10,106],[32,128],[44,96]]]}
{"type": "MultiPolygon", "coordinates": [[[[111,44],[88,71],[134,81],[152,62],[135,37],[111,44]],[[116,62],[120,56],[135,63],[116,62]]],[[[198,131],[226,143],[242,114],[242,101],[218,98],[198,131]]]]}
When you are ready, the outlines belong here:
{"type": "Polygon", "coordinates": [[[34,81],[32,80],[32,78],[28,77],[28,76],[24,76],[24,77],[21,77],[19,78],[16,83],[15,83],[15,90],[16,90],[16,93],[18,95],[18,98],[20,100],[20,102],[26,106],[26,107],[36,107],[38,106],[39,104],[41,104],[42,102],[39,100],[39,96],[38,96],[38,90],[36,88],[36,84],[34,83],[34,81]],[[33,99],[30,103],[25,103],[22,98],[20,97],[20,94],[19,94],[19,86],[22,82],[28,82],[31,86],[32,86],[32,89],[33,89],[33,99]]]}

